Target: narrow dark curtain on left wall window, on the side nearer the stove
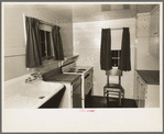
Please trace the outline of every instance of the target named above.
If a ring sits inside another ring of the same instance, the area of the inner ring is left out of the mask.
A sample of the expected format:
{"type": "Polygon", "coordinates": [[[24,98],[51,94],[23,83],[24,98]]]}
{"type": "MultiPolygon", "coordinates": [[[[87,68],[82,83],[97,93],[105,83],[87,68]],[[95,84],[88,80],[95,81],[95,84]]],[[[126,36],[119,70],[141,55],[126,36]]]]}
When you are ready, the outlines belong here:
{"type": "Polygon", "coordinates": [[[64,59],[63,44],[62,44],[59,29],[61,29],[59,26],[53,26],[53,31],[52,31],[56,60],[64,59]]]}

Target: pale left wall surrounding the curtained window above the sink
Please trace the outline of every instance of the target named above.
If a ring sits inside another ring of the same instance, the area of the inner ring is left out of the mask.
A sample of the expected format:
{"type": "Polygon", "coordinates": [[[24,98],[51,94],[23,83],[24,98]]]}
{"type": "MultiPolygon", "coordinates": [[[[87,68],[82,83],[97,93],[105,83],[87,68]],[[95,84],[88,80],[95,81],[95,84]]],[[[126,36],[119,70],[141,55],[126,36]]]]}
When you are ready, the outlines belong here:
{"type": "MultiPolygon", "coordinates": [[[[4,48],[4,80],[9,80],[33,71],[25,68],[25,41],[23,13],[28,16],[36,18],[45,22],[55,23],[61,26],[61,35],[64,45],[64,55],[73,53],[73,24],[62,23],[62,19],[44,8],[37,9],[32,4],[6,4],[3,7],[3,48],[4,48]],[[57,21],[59,20],[59,21],[57,21]],[[63,30],[64,29],[64,30],[63,30]],[[67,34],[69,33],[69,34],[67,34]],[[69,53],[65,49],[70,48],[69,53]]],[[[63,21],[65,22],[65,20],[63,21]]],[[[58,62],[46,63],[40,68],[42,72],[55,69],[58,62]]]]}

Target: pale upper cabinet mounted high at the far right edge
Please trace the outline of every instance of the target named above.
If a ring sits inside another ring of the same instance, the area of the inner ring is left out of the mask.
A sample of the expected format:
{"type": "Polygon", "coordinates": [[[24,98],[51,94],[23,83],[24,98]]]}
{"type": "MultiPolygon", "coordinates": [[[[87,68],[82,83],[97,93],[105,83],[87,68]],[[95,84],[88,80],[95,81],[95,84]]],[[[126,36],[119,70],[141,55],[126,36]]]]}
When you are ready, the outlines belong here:
{"type": "Polygon", "coordinates": [[[160,5],[151,12],[150,19],[150,54],[160,57],[160,5]]]}

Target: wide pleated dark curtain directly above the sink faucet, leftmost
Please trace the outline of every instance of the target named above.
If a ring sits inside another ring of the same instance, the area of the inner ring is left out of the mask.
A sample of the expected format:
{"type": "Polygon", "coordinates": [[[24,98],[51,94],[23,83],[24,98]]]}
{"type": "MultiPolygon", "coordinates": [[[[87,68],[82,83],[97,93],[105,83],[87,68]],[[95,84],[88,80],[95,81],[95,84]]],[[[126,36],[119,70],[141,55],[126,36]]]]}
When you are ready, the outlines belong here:
{"type": "Polygon", "coordinates": [[[41,55],[41,37],[40,37],[40,21],[33,18],[25,18],[26,26],[26,57],[25,66],[28,68],[39,67],[42,65],[41,55]]]}

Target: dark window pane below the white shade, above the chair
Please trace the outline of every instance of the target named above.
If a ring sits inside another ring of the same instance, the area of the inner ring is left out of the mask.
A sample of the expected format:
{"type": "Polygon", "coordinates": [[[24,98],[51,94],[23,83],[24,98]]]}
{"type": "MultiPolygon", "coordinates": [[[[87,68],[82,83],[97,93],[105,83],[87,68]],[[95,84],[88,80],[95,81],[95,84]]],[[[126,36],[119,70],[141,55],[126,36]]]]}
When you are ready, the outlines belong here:
{"type": "Polygon", "coordinates": [[[121,51],[112,51],[111,52],[112,67],[118,67],[119,66],[120,56],[121,56],[121,51]]]}

